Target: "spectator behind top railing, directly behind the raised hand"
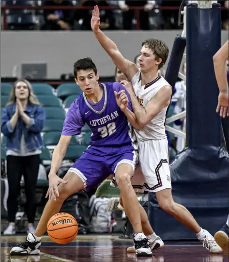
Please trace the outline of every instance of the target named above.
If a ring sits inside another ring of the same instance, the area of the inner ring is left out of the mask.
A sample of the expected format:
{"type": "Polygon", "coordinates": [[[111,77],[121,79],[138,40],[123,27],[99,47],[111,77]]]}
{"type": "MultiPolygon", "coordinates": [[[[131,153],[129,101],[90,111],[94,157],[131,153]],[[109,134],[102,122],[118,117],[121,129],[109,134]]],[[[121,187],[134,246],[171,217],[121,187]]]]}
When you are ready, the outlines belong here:
{"type": "MultiPolygon", "coordinates": [[[[90,10],[76,10],[75,17],[76,20],[83,20],[81,29],[82,30],[91,30],[91,18],[92,10],[95,5],[98,6],[109,6],[107,0],[85,0],[82,3],[82,6],[91,6],[90,10]]],[[[112,10],[100,10],[100,29],[101,30],[114,30],[115,27],[115,17],[112,10]]]]}

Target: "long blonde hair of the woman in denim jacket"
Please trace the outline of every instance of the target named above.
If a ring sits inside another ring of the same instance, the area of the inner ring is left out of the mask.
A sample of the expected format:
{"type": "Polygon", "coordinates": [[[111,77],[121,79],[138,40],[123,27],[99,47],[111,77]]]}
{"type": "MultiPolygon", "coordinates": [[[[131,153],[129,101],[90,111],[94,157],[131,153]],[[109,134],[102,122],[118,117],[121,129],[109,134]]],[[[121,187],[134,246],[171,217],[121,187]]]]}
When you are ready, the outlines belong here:
{"type": "Polygon", "coordinates": [[[28,102],[31,104],[31,105],[40,105],[40,102],[39,100],[37,99],[36,95],[33,93],[33,90],[32,90],[32,85],[29,81],[25,80],[25,79],[19,79],[17,80],[15,83],[14,83],[14,86],[13,86],[13,89],[10,93],[10,98],[9,98],[9,102],[7,102],[6,106],[8,105],[13,105],[16,101],[16,96],[15,96],[15,88],[16,88],[16,85],[18,82],[24,82],[28,89],[29,89],[29,98],[28,98],[28,102]]]}

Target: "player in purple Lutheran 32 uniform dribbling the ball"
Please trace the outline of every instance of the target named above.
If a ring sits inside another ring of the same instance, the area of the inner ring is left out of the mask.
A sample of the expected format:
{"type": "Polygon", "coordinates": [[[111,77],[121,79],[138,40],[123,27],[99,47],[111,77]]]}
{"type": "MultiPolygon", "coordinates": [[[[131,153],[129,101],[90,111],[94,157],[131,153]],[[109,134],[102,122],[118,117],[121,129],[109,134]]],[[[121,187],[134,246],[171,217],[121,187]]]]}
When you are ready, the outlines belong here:
{"type": "MultiPolygon", "coordinates": [[[[90,190],[112,173],[136,233],[134,243],[137,256],[152,256],[148,240],[142,232],[138,200],[130,181],[138,160],[137,143],[122,110],[126,107],[132,110],[131,104],[127,98],[120,107],[117,105],[114,92],[120,92],[122,84],[99,84],[97,68],[90,58],[78,60],[74,64],[74,74],[83,93],[70,106],[60,141],[53,152],[46,195],[49,201],[35,233],[28,234],[26,242],[13,247],[10,254],[39,254],[47,222],[60,211],[63,201],[77,191],[90,190]],[[80,134],[85,123],[92,130],[90,146],[61,180],[56,173],[66,149],[72,136],[80,134]]],[[[135,125],[135,128],[139,126],[135,125]]]]}

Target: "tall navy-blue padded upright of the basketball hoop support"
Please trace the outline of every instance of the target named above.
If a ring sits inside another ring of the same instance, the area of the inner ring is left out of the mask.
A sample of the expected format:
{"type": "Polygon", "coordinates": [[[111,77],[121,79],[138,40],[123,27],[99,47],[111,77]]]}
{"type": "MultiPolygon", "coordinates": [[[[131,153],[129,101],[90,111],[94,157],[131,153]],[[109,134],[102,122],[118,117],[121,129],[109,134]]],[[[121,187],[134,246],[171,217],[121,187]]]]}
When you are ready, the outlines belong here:
{"type": "Polygon", "coordinates": [[[187,5],[187,146],[220,147],[221,124],[213,56],[221,47],[221,7],[187,5]]]}

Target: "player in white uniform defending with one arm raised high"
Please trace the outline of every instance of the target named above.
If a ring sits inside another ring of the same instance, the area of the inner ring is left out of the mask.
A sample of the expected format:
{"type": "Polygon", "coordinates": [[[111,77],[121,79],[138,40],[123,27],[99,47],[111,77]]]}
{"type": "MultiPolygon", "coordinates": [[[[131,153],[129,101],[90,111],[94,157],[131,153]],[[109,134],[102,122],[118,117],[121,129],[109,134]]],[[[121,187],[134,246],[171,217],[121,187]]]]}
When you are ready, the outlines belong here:
{"type": "MultiPolygon", "coordinates": [[[[212,254],[222,252],[222,249],[214,241],[214,237],[207,230],[201,229],[192,214],[182,205],[175,203],[172,198],[168,166],[168,141],[164,126],[172,88],[158,74],[158,69],[166,63],[168,58],[168,47],[157,39],[145,40],[140,51],[140,69],[138,69],[134,63],[122,56],[116,44],[99,29],[99,19],[99,9],[98,6],[95,6],[92,12],[92,30],[114,64],[131,80],[134,87],[130,83],[124,82],[134,111],[133,113],[126,109],[124,113],[130,123],[136,121],[141,127],[140,131],[136,131],[136,135],[139,145],[139,164],[143,176],[135,174],[132,180],[135,182],[137,179],[137,183],[132,184],[137,185],[138,192],[143,190],[155,192],[159,206],[194,231],[199,241],[212,254]]],[[[115,95],[119,105],[122,98],[125,97],[125,93],[121,91],[115,95]]],[[[151,238],[150,242],[153,243],[156,235],[140,204],[139,208],[143,232],[148,236],[148,239],[151,238]]]]}

